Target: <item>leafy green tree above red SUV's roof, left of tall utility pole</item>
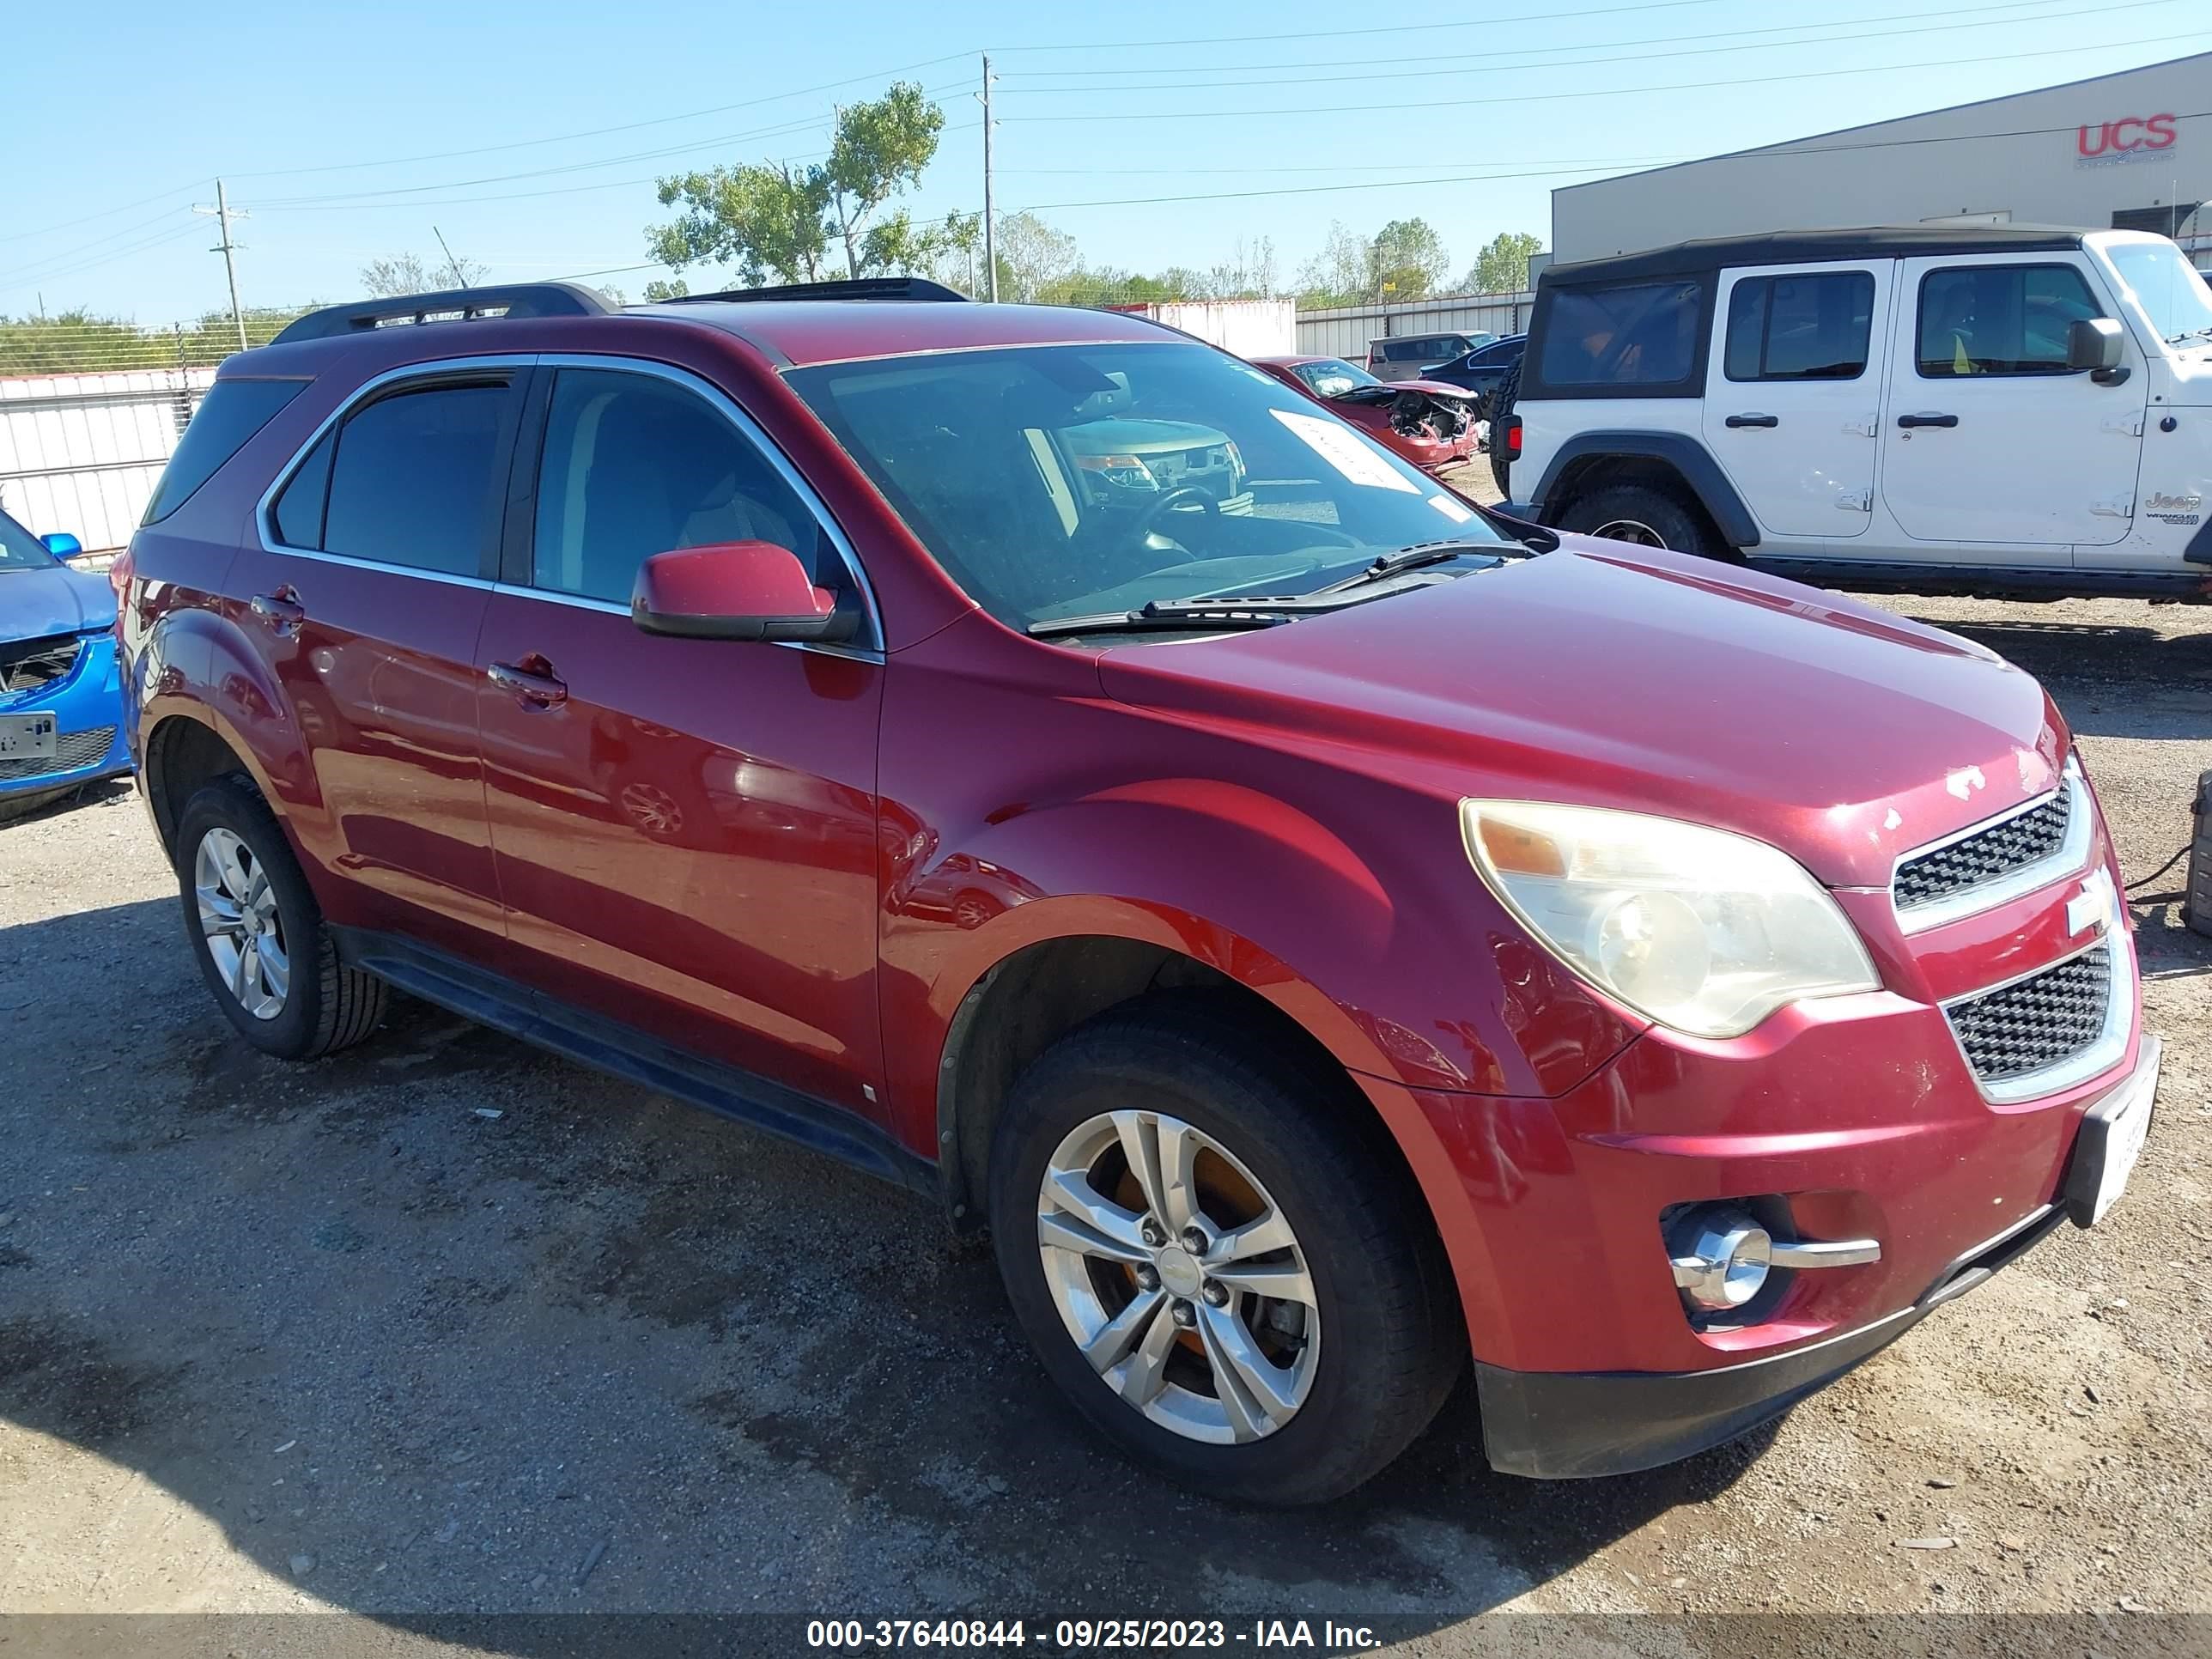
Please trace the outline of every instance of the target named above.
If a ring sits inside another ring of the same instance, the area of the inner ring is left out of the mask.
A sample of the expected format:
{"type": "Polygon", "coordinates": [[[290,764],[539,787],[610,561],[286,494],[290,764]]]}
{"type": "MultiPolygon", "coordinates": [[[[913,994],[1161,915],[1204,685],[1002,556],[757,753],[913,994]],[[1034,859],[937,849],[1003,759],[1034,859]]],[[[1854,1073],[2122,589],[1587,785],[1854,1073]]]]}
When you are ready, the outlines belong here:
{"type": "Polygon", "coordinates": [[[748,288],[768,279],[821,281],[838,254],[847,276],[889,270],[889,261],[911,257],[914,226],[905,215],[872,221],[922,177],[942,131],[945,111],[920,86],[896,82],[876,102],[836,113],[825,161],[741,164],[661,179],[661,206],[684,204],[686,212],[675,223],[648,226],[646,250],[672,270],[732,265],[748,288]]]}

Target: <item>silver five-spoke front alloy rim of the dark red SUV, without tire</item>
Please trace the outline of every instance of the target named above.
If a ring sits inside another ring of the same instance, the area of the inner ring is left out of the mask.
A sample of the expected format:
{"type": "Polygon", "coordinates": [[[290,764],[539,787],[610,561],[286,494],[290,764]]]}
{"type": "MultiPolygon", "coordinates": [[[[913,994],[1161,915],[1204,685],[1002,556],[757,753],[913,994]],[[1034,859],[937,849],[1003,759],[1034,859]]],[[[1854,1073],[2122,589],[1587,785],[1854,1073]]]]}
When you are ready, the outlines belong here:
{"type": "Polygon", "coordinates": [[[1283,1429],[1321,1360],[1305,1252],[1217,1139],[1150,1110],[1077,1124],[1044,1168],[1037,1252],[1106,1387],[1188,1440],[1283,1429]]]}

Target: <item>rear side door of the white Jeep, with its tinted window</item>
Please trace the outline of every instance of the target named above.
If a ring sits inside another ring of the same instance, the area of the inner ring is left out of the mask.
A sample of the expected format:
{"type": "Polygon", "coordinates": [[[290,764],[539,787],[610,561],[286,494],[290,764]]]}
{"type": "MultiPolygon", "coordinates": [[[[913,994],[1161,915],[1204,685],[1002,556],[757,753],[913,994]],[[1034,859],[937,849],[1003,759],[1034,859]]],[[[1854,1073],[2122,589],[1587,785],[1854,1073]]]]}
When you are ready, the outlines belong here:
{"type": "Polygon", "coordinates": [[[1721,276],[1705,447],[1767,538],[1867,533],[1893,272],[1880,259],[1721,276]]]}

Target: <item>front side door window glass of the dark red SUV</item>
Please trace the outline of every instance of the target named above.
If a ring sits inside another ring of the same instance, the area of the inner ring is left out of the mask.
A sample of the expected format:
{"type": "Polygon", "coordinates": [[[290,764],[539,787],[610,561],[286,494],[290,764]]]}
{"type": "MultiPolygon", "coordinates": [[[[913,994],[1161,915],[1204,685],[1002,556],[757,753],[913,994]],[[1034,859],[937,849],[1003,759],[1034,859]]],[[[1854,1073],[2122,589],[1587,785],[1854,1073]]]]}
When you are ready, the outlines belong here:
{"type": "Polygon", "coordinates": [[[619,369],[553,380],[533,586],[626,604],[653,553],[774,542],[821,566],[821,540],[796,491],[697,394],[619,369]]]}

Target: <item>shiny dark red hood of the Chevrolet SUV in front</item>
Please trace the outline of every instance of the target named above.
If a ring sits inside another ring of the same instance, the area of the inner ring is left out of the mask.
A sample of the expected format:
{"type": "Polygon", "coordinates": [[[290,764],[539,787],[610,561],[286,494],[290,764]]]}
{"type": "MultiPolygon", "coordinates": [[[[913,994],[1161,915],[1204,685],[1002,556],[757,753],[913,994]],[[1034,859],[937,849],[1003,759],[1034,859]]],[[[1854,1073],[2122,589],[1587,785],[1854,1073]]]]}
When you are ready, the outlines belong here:
{"type": "Polygon", "coordinates": [[[1767,841],[1834,887],[2042,794],[2064,730],[1995,653],[1816,588],[1562,538],[1279,628],[1115,646],[1108,695],[1436,796],[1610,805],[1767,841]]]}

